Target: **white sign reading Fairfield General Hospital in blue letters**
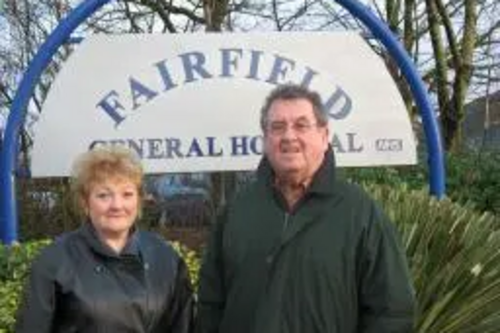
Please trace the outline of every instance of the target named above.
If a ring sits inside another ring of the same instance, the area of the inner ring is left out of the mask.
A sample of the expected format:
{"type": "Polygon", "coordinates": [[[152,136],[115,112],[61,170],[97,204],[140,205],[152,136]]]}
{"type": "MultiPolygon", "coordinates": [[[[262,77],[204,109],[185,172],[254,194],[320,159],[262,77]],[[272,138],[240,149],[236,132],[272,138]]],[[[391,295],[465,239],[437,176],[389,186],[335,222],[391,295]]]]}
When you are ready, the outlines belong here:
{"type": "Polygon", "coordinates": [[[35,125],[33,176],[66,176],[99,145],[145,169],[255,169],[260,108],[276,86],[318,91],[338,165],[414,164],[407,111],[356,33],[95,35],[64,64],[35,125]]]}

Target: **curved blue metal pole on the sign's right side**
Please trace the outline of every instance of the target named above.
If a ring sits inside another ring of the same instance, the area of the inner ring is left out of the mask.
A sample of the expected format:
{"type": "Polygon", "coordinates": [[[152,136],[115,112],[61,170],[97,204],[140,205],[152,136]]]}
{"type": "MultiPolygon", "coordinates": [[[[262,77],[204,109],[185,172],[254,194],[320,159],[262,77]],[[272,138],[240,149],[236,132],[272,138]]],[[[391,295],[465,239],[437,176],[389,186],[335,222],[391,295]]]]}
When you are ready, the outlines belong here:
{"type": "Polygon", "coordinates": [[[373,35],[382,42],[389,54],[398,63],[401,72],[410,85],[424,125],[429,154],[427,162],[429,164],[430,192],[437,198],[442,198],[445,195],[446,175],[440,129],[425,85],[412,60],[401,43],[395,38],[392,31],[367,6],[356,0],[335,1],[363,22],[373,35]]]}

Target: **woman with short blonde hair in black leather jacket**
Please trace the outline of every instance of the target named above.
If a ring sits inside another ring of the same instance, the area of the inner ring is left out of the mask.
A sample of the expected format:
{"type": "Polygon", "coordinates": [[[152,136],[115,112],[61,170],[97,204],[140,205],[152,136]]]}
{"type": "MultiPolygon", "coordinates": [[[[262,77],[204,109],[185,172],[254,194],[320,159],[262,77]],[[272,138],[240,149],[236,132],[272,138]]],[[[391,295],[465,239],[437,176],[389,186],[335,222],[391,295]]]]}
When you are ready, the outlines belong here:
{"type": "Polygon", "coordinates": [[[100,148],[76,161],[73,176],[86,221],[34,261],[16,332],[190,332],[186,265],[135,227],[140,162],[123,148],[100,148]]]}

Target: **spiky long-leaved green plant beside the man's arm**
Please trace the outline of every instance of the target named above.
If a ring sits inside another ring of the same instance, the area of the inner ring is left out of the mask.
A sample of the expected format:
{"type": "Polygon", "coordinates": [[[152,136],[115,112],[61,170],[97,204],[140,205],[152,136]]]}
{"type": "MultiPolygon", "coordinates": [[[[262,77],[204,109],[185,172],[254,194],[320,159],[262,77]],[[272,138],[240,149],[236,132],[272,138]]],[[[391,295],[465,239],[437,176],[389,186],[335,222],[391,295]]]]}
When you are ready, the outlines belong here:
{"type": "Polygon", "coordinates": [[[499,332],[500,219],[425,191],[368,188],[402,235],[418,300],[415,332],[499,332]]]}

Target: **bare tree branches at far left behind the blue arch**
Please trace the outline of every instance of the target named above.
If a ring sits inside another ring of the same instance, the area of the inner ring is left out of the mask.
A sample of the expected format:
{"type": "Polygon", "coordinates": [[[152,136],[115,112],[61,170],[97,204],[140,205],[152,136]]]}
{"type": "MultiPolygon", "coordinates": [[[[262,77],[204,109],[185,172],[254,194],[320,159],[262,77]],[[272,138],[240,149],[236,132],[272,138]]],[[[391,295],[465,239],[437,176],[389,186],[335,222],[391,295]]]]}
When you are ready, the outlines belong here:
{"type": "MultiPolygon", "coordinates": [[[[0,113],[7,115],[20,77],[57,22],[69,9],[63,1],[6,0],[0,14],[0,32],[6,38],[0,43],[0,113]]],[[[36,119],[60,64],[68,57],[70,46],[63,46],[44,72],[31,98],[27,123],[36,119]]],[[[20,163],[29,164],[32,137],[28,127],[20,134],[20,163]]]]}

